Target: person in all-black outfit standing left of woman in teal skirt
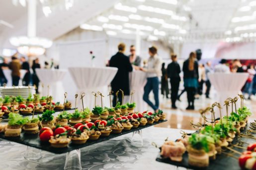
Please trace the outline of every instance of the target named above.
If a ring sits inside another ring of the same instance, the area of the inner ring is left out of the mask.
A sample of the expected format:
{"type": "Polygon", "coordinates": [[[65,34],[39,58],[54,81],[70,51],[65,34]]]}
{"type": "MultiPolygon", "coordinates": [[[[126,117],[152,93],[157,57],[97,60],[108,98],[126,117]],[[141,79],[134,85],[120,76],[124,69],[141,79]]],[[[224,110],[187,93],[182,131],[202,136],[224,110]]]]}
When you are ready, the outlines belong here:
{"type": "Polygon", "coordinates": [[[179,88],[179,82],[180,82],[180,66],[177,62],[177,56],[175,54],[171,55],[172,62],[168,64],[167,67],[167,74],[170,78],[171,83],[171,108],[177,109],[175,102],[178,97],[178,88],[179,88]]]}

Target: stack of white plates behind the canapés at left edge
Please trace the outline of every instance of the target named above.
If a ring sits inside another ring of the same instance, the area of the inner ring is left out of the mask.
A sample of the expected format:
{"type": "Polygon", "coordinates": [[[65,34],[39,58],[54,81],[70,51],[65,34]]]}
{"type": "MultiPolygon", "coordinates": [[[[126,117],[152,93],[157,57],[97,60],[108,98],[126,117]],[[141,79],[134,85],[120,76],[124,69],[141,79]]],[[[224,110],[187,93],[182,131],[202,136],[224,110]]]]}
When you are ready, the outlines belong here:
{"type": "Polygon", "coordinates": [[[15,87],[0,87],[0,96],[22,96],[26,99],[31,93],[32,95],[36,93],[35,87],[30,86],[15,86],[15,87]]]}

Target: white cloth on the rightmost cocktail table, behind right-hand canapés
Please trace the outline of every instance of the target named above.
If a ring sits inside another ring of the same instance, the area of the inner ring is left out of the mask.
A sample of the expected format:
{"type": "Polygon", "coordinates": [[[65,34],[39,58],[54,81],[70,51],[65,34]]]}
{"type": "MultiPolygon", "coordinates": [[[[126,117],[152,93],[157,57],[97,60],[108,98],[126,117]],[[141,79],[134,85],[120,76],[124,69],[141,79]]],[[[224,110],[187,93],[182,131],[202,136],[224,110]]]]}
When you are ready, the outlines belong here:
{"type": "MultiPolygon", "coordinates": [[[[227,98],[234,98],[238,94],[242,94],[241,89],[246,83],[248,73],[209,73],[208,77],[217,91],[217,101],[223,106],[227,98]]],[[[240,102],[237,106],[240,106],[240,102]]],[[[226,107],[222,108],[222,113],[226,113],[226,107]]],[[[229,111],[231,111],[231,108],[229,111]]]]}

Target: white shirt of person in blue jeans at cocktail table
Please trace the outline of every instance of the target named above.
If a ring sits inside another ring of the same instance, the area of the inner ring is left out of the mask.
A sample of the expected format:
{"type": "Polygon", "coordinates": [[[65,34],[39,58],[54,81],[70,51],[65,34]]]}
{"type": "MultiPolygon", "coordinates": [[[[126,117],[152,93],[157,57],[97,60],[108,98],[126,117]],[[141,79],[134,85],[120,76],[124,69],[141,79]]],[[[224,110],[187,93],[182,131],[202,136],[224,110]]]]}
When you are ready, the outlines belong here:
{"type": "Polygon", "coordinates": [[[157,55],[149,57],[148,66],[146,69],[147,77],[160,77],[162,76],[161,71],[162,60],[157,55]]]}

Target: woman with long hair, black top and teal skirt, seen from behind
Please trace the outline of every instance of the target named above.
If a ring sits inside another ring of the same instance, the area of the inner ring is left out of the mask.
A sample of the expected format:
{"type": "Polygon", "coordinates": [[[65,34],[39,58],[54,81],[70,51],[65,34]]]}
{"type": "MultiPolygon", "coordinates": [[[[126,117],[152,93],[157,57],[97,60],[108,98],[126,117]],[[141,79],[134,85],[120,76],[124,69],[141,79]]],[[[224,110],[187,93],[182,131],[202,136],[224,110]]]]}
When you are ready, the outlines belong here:
{"type": "Polygon", "coordinates": [[[184,87],[187,92],[187,110],[194,110],[194,96],[198,87],[198,63],[196,61],[195,52],[189,54],[189,58],[183,63],[183,79],[184,87]]]}

